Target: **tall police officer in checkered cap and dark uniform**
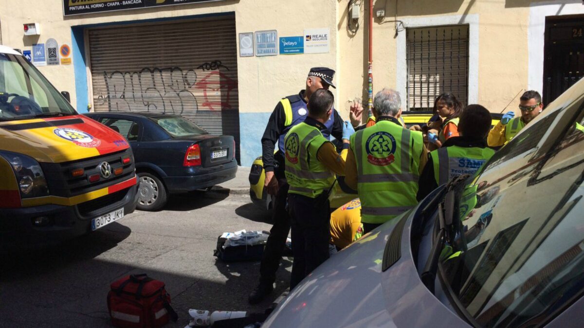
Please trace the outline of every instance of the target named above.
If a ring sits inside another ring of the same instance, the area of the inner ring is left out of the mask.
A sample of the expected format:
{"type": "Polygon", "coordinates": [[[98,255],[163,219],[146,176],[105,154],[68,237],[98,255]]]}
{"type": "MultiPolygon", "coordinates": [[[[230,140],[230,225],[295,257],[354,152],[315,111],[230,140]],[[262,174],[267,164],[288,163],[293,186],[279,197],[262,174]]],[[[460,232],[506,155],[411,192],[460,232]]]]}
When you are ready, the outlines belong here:
{"type": "MultiPolygon", "coordinates": [[[[311,68],[306,79],[306,89],[280,100],[274,108],[263,134],[262,160],[266,172],[264,189],[276,198],[272,216],[274,224],[270,229],[270,236],[267,239],[260,264],[259,285],[249,294],[248,300],[252,304],[259,303],[272,292],[276,271],[280,265],[286,238],[290,232],[290,217],[284,208],[288,197],[288,184],[284,176],[284,136],[290,128],[303,122],[307,117],[306,104],[312,93],[318,89],[328,89],[329,86],[335,88],[332,82],[334,75],[335,71],[326,67],[311,68]],[[279,149],[274,154],[276,141],[279,149]]],[[[332,135],[340,140],[343,134],[343,121],[336,110],[333,109],[332,112],[329,120],[322,124],[324,126],[322,135],[325,138],[332,135]]]]}

